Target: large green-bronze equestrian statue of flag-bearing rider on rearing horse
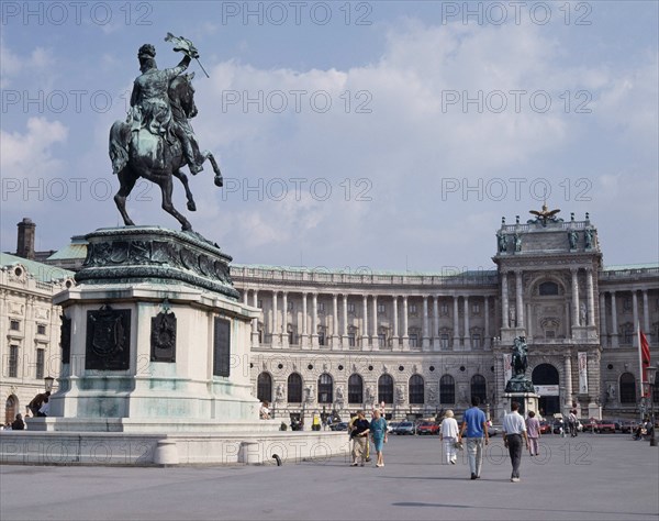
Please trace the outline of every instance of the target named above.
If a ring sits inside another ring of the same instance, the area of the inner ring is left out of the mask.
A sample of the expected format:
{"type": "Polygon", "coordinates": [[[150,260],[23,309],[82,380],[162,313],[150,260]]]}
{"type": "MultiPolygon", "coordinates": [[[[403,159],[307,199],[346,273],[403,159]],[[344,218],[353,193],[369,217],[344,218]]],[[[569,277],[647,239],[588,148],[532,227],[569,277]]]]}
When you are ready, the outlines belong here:
{"type": "Polygon", "coordinates": [[[133,85],[131,110],[125,122],[116,121],[110,130],[112,171],[120,182],[114,202],[124,223],[134,225],[126,213],[125,201],[137,179],[144,177],[160,187],[163,209],[181,223],[183,231],[191,231],[190,222],[171,202],[172,177],[182,182],[190,211],[196,211],[197,206],[188,177],[180,168],[188,165],[190,173],[197,175],[208,159],[215,173],[215,185],[221,187],[223,180],[213,154],[200,152],[189,121],[197,115],[194,73],[185,75],[183,71],[193,58],[199,62],[199,53],[192,42],[171,33],[165,41],[172,42],[174,51],[181,52],[183,58],[176,67],[158,69],[156,48],[150,44],[139,47],[137,58],[142,74],[133,85]]]}

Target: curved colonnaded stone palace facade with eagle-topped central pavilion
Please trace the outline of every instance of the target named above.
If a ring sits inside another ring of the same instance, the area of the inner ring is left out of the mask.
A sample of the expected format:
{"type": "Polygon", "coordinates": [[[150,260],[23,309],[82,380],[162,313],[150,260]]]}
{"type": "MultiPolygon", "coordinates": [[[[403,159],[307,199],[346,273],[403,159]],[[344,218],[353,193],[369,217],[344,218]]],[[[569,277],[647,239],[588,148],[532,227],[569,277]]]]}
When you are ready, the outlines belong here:
{"type": "Polygon", "coordinates": [[[253,322],[254,392],[278,418],[384,401],[394,419],[503,413],[513,339],[544,414],[638,412],[640,323],[657,361],[659,266],[603,268],[590,220],[502,224],[494,270],[394,274],[232,266],[253,322]]]}

